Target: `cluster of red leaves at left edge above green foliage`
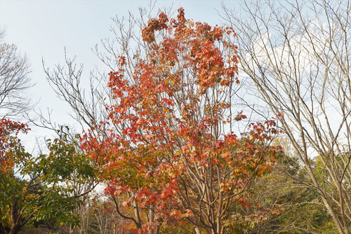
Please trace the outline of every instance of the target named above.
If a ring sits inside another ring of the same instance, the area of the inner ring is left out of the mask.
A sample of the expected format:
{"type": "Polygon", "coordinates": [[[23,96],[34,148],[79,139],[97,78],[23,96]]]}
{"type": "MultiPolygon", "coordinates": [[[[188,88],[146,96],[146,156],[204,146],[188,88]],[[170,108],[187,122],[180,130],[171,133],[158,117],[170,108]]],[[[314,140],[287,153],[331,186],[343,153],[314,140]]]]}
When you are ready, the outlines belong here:
{"type": "Polygon", "coordinates": [[[29,128],[24,123],[10,121],[3,118],[0,121],[0,172],[8,173],[12,170],[14,160],[13,151],[20,146],[17,135],[27,133],[29,128]]]}

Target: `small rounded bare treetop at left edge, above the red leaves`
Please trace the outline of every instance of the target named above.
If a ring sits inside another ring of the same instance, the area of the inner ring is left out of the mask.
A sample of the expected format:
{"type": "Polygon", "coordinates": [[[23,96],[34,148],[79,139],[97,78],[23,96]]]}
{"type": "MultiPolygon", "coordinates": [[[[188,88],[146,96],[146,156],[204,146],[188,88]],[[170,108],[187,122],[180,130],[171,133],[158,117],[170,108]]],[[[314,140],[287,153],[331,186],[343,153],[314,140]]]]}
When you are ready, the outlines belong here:
{"type": "Polygon", "coordinates": [[[32,87],[27,57],[18,52],[14,44],[4,42],[0,31],[0,116],[11,118],[32,109],[24,92],[32,87]]]}

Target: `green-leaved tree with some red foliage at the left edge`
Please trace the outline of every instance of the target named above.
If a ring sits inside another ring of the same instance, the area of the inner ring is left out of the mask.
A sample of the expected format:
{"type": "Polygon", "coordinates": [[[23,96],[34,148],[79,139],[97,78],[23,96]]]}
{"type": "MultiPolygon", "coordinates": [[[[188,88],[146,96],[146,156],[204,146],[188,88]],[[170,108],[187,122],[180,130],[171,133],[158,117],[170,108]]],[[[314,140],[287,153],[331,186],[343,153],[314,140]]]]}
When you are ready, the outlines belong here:
{"type": "Polygon", "coordinates": [[[77,146],[60,137],[48,142],[48,155],[27,153],[18,133],[27,133],[22,123],[0,122],[0,233],[17,234],[34,221],[55,220],[58,225],[78,225],[72,213],[81,202],[79,181],[93,179],[91,161],[77,146]]]}

